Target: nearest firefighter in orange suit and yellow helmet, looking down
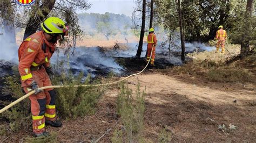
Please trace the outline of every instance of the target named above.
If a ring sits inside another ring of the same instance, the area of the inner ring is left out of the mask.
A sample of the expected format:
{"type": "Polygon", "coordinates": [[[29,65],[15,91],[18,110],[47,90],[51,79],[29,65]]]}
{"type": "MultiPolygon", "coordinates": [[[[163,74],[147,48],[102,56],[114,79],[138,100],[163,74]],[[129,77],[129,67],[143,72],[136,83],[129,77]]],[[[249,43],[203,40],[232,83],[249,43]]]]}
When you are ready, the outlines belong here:
{"type": "Polygon", "coordinates": [[[54,127],[62,126],[56,117],[55,90],[39,90],[38,88],[52,85],[49,76],[54,73],[50,66],[50,58],[55,52],[57,41],[68,35],[69,30],[63,20],[56,17],[46,19],[41,27],[43,31],[26,38],[18,50],[18,70],[21,75],[22,88],[26,94],[35,90],[35,94],[29,96],[35,137],[49,135],[45,131],[45,124],[54,127]]]}

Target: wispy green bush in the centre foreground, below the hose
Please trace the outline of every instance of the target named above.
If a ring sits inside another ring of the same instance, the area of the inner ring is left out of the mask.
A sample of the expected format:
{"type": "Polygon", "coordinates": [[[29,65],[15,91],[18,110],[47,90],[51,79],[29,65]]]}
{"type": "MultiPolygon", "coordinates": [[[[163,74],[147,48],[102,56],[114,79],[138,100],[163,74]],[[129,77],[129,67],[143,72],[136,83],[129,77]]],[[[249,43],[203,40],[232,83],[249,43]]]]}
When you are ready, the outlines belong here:
{"type": "MultiPolygon", "coordinates": [[[[125,129],[126,142],[142,142],[143,136],[143,116],[145,111],[144,103],[145,90],[140,92],[139,85],[136,92],[136,99],[132,96],[132,91],[121,84],[121,91],[117,97],[117,112],[120,115],[125,129]]],[[[112,141],[120,141],[120,134],[116,131],[112,141]]]]}

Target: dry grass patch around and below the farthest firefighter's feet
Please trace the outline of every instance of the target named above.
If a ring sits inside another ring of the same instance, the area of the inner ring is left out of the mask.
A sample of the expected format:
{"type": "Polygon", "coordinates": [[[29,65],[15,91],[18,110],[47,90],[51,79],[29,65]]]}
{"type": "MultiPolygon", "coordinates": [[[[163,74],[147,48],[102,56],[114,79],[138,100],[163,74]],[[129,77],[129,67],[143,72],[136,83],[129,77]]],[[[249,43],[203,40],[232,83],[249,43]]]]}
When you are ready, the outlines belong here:
{"type": "MultiPolygon", "coordinates": [[[[190,74],[213,82],[255,82],[255,54],[244,60],[227,64],[240,54],[240,45],[226,45],[226,53],[200,52],[187,54],[193,59],[183,66],[174,67],[173,74],[190,74]]],[[[165,72],[164,70],[162,72],[165,72]]],[[[169,70],[170,72],[170,70],[169,70]]]]}

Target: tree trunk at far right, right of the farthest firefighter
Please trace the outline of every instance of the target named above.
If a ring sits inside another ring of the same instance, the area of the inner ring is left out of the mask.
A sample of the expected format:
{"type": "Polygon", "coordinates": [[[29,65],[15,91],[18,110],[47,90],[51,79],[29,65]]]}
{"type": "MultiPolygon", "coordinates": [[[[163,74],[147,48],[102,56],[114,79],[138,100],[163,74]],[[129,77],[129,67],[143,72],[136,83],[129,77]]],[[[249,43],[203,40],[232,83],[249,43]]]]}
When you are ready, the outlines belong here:
{"type": "Polygon", "coordinates": [[[240,58],[243,59],[248,55],[250,51],[250,40],[251,40],[251,22],[250,18],[252,17],[252,10],[253,10],[253,0],[247,0],[246,4],[246,11],[245,11],[245,24],[244,24],[244,33],[242,34],[241,40],[241,52],[240,58]]]}

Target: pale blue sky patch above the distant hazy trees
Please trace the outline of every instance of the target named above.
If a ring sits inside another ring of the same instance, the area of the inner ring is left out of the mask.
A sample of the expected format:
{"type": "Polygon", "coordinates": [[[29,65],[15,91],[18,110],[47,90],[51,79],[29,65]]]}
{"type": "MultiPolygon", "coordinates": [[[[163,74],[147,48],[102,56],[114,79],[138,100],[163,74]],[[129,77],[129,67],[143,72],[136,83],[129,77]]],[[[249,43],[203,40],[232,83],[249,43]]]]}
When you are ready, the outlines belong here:
{"type": "Polygon", "coordinates": [[[92,4],[91,8],[83,12],[100,14],[111,12],[129,17],[131,17],[136,6],[133,0],[88,0],[88,2],[92,4]]]}

